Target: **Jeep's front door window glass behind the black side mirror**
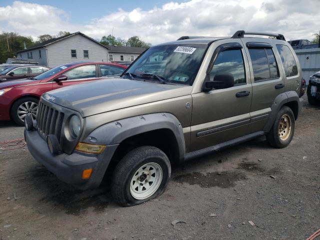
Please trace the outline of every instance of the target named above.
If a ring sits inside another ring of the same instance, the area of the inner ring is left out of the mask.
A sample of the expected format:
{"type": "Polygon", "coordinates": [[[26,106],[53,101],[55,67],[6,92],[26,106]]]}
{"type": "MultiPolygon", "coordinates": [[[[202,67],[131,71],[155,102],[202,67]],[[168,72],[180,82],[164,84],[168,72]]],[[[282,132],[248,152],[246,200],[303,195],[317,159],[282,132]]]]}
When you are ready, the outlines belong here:
{"type": "Polygon", "coordinates": [[[245,73],[242,53],[240,49],[225,50],[219,53],[210,71],[210,80],[213,81],[217,73],[231,73],[234,84],[245,83],[245,73]]]}

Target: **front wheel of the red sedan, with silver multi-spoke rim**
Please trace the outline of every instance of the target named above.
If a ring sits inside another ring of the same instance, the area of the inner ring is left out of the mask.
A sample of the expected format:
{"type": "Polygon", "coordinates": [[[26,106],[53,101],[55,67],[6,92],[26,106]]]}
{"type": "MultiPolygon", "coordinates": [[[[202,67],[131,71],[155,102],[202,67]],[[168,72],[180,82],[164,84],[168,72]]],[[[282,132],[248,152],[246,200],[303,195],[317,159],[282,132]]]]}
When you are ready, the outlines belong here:
{"type": "Polygon", "coordinates": [[[11,119],[18,125],[24,125],[24,117],[31,115],[34,120],[39,100],[35,97],[23,97],[15,101],[11,107],[11,119]]]}

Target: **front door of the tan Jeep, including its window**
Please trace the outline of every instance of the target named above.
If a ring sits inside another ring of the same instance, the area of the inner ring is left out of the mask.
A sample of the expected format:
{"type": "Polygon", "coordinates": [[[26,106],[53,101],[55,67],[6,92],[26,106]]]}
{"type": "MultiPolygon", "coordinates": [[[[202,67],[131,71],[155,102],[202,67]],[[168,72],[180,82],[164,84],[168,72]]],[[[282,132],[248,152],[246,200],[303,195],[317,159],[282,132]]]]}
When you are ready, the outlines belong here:
{"type": "MultiPolygon", "coordinates": [[[[223,48],[223,47],[221,47],[223,48]]],[[[232,74],[234,86],[192,94],[190,151],[215,145],[247,134],[250,120],[252,86],[243,49],[227,49],[213,53],[209,71],[215,75],[232,74]],[[217,54],[217,56],[214,56],[217,54]]]]}

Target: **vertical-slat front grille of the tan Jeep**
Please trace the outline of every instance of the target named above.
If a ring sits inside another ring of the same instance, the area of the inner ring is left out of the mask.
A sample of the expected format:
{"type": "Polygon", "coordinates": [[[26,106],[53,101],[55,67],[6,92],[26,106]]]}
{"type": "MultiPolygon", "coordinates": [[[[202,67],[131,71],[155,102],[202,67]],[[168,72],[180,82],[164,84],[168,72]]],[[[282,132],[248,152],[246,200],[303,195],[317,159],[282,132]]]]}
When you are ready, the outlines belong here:
{"type": "Polygon", "coordinates": [[[46,105],[43,101],[39,102],[36,114],[37,130],[43,139],[48,134],[54,134],[60,142],[61,128],[64,113],[46,105]]]}

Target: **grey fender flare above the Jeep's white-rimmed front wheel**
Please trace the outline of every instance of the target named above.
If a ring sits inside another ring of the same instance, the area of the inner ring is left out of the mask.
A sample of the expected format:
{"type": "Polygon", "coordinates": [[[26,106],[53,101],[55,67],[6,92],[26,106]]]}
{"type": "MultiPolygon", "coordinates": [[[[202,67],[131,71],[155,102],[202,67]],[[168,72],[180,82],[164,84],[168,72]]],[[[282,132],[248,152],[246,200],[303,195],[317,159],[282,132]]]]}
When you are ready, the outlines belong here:
{"type": "Polygon", "coordinates": [[[174,115],[166,112],[128,117],[106,123],[95,128],[83,141],[93,143],[90,139],[94,137],[99,144],[115,145],[128,137],[157,129],[172,131],[178,146],[179,159],[177,160],[183,160],[185,141],[181,123],[174,115]]]}

